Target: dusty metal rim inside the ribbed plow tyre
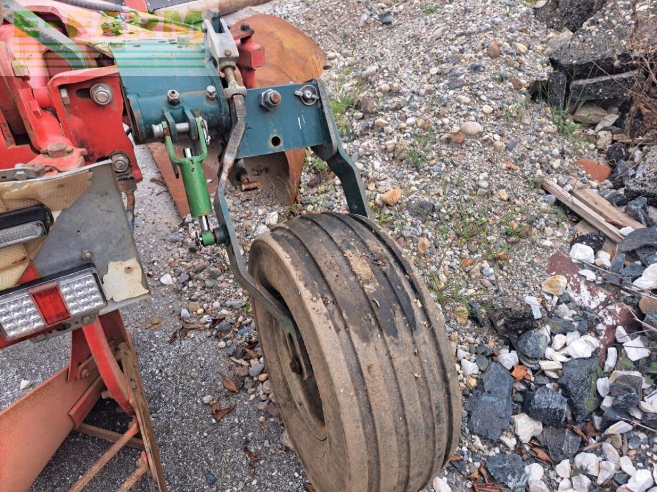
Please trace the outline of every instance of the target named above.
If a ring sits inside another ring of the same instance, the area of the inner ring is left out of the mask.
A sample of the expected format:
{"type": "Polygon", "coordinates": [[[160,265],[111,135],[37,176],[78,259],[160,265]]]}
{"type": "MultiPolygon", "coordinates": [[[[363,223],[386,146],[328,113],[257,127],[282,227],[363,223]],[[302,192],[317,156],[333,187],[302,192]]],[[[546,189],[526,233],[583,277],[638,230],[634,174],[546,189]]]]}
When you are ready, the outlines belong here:
{"type": "MultiPolygon", "coordinates": [[[[276,297],[285,304],[280,295],[276,297]]],[[[294,321],[294,320],[293,320],[294,321]]],[[[296,321],[294,321],[296,326],[296,321]]],[[[317,386],[317,379],[315,375],[311,375],[307,379],[303,379],[298,371],[298,361],[292,353],[288,345],[287,337],[292,337],[275,321],[275,344],[276,350],[281,361],[281,368],[284,378],[290,388],[290,393],[294,399],[302,419],[306,426],[313,433],[313,436],[318,440],[325,440],[327,438],[327,428],[324,419],[324,407],[321,395],[319,394],[319,387],[317,386]]],[[[305,347],[305,343],[303,344],[305,347]]],[[[305,354],[304,354],[305,355],[305,354]]],[[[312,361],[311,361],[312,365],[312,361]]]]}

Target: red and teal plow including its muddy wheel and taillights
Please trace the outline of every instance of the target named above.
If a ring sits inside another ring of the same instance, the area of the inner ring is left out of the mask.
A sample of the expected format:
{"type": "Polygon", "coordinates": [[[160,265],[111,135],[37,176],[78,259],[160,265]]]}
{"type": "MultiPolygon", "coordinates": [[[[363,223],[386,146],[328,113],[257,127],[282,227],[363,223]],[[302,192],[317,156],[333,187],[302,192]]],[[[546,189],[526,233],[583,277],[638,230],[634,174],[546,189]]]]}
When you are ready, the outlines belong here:
{"type": "Polygon", "coordinates": [[[108,446],[70,492],[126,446],[135,470],[116,490],[140,480],[167,490],[120,314],[149,295],[133,239],[141,144],[197,221],[198,247],[225,249],[252,298],[281,417],[315,490],[422,489],[459,440],[451,345],[417,270],[370,218],[321,50],[265,15],[228,26],[208,10],[189,25],[92,1],[2,8],[0,349],[33,343],[38,363],[39,344],[69,334],[70,360],[0,412],[0,490],[30,490],[74,430],[108,446]],[[247,260],[227,195],[256,189],[289,203],[307,150],[338,178],[348,213],[283,222],[247,260]],[[85,423],[101,399],[131,417],[124,432],[85,423]]]}

